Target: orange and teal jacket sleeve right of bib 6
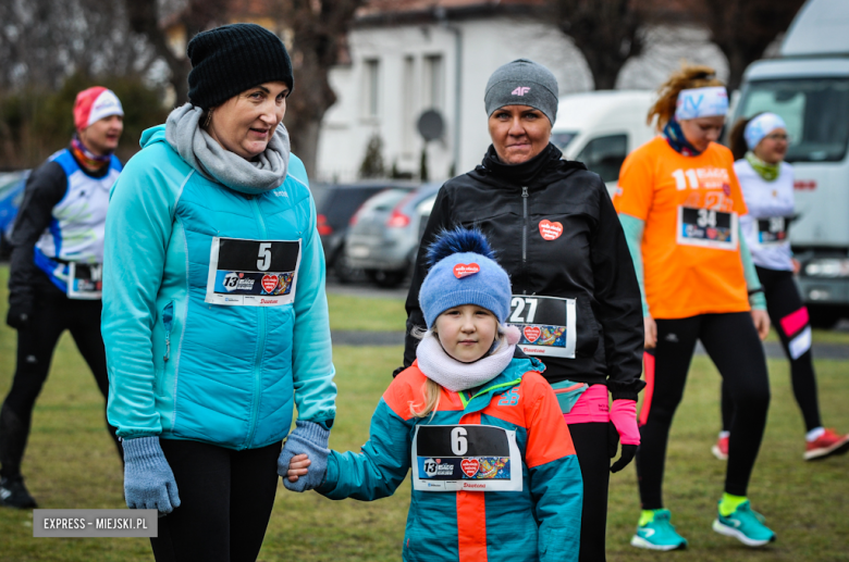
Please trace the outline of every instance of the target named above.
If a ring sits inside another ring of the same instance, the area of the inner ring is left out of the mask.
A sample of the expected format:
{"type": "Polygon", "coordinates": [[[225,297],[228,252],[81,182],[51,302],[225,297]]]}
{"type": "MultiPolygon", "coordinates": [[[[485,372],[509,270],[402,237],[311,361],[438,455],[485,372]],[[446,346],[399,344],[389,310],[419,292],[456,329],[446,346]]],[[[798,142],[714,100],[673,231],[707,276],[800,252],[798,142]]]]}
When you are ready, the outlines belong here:
{"type": "Polygon", "coordinates": [[[542,376],[525,375],[528,447],[526,463],[534,516],[540,525],[540,560],[577,562],[580,550],[583,478],[571,435],[554,390],[542,376]]]}

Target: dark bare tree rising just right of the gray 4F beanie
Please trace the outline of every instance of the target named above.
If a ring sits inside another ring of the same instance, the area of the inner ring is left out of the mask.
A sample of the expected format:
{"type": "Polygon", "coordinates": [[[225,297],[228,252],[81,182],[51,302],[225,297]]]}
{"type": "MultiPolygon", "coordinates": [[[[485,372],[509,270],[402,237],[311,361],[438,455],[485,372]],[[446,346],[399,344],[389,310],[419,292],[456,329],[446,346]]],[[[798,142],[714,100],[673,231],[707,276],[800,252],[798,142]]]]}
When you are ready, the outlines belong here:
{"type": "Polygon", "coordinates": [[[546,0],[541,13],[569,36],[592,73],[596,90],[613,89],[631,57],[642,52],[645,13],[636,0],[546,0]]]}

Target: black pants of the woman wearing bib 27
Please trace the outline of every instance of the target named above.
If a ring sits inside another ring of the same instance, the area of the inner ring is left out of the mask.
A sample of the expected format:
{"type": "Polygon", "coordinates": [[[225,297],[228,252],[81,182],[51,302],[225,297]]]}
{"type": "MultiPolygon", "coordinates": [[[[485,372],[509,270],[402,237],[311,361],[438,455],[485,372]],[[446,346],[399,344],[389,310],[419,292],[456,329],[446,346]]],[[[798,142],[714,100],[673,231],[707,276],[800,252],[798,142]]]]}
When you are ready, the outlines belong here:
{"type": "Polygon", "coordinates": [[[583,477],[580,562],[604,562],[607,530],[607,486],[611,458],[607,454],[607,424],[569,424],[571,441],[583,477]]]}

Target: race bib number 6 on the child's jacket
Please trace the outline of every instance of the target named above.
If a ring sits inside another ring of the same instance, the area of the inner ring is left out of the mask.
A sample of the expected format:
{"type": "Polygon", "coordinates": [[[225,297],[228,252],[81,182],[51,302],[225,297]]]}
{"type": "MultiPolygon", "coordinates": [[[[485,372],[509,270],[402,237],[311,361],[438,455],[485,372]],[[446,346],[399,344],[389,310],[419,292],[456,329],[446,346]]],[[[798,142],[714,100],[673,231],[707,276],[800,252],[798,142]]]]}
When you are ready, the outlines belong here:
{"type": "Polygon", "coordinates": [[[492,425],[418,425],[413,487],[423,491],[521,491],[516,432],[492,425]]]}

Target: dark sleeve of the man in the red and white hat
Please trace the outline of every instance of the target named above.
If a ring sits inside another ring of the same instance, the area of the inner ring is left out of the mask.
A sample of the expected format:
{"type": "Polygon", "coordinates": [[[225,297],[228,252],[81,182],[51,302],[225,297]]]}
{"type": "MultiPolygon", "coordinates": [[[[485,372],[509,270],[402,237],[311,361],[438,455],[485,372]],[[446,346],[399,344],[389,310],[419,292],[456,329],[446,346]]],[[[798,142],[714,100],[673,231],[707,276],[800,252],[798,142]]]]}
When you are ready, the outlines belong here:
{"type": "Polygon", "coordinates": [[[9,307],[29,311],[33,307],[33,285],[40,275],[34,261],[35,245],[50,225],[53,208],[67,191],[67,178],[62,166],[47,162],[34,171],[26,182],[24,200],[12,230],[12,255],[9,275],[9,307]]]}

